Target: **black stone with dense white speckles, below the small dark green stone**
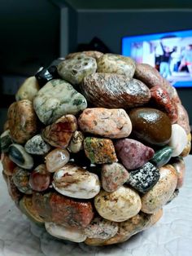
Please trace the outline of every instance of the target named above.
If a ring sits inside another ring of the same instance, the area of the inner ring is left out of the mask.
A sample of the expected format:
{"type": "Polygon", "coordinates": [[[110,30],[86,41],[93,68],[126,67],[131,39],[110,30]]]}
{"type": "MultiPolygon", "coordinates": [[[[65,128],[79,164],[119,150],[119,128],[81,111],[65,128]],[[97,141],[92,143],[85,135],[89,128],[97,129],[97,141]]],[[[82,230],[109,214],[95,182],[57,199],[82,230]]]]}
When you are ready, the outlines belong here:
{"type": "Polygon", "coordinates": [[[137,191],[145,193],[155,186],[159,180],[159,169],[150,162],[136,170],[129,172],[130,176],[127,181],[137,191]]]}

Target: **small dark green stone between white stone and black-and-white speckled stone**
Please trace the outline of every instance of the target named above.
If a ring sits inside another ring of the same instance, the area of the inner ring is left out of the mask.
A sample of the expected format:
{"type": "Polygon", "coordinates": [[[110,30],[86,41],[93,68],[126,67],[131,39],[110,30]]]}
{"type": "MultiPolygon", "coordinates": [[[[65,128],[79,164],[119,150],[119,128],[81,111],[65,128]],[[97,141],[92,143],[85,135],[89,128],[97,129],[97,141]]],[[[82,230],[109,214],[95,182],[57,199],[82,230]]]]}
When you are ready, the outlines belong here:
{"type": "Polygon", "coordinates": [[[172,157],[172,148],[165,147],[156,151],[154,157],[152,157],[150,161],[155,166],[160,167],[160,166],[166,165],[171,157],[172,157]]]}

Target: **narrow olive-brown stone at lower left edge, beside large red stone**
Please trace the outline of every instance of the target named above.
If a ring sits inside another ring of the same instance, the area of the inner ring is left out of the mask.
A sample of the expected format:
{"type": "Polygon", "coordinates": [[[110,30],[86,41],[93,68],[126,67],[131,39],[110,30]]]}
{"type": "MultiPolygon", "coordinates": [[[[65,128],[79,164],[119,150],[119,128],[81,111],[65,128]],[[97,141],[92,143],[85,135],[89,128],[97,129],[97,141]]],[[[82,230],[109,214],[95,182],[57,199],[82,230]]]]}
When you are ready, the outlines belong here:
{"type": "Polygon", "coordinates": [[[25,214],[33,223],[39,226],[44,226],[43,218],[37,214],[37,211],[33,208],[32,196],[24,195],[20,200],[20,210],[25,214]]]}

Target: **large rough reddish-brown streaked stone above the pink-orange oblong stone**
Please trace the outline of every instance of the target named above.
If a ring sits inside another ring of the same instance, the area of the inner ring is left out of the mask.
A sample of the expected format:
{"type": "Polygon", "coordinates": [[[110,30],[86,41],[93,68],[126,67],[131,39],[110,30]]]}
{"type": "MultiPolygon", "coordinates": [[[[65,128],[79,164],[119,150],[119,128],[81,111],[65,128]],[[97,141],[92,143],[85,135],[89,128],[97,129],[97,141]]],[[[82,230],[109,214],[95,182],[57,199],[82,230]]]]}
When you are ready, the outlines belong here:
{"type": "Polygon", "coordinates": [[[91,104],[101,108],[133,108],[146,104],[151,98],[144,83],[116,73],[94,73],[85,77],[81,91],[91,104]]]}

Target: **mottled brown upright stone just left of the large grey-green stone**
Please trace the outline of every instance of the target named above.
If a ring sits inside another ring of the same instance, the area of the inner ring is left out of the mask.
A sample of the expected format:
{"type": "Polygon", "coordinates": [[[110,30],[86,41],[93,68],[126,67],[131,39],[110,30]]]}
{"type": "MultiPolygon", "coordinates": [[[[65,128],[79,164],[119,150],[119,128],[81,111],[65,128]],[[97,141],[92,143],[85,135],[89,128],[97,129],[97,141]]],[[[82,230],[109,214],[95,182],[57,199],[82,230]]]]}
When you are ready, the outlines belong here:
{"type": "Polygon", "coordinates": [[[15,143],[25,143],[37,132],[37,116],[33,103],[28,99],[11,104],[8,109],[8,121],[15,143]]]}

